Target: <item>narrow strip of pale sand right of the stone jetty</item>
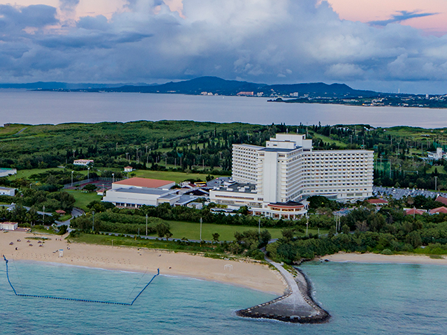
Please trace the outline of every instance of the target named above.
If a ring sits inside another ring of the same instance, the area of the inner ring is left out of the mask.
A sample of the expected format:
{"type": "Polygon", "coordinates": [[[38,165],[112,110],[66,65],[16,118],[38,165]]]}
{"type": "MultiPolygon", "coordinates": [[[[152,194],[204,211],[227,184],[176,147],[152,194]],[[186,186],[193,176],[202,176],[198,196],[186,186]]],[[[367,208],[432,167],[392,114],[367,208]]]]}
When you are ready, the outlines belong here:
{"type": "Polygon", "coordinates": [[[426,255],[380,255],[376,253],[335,253],[334,255],[324,256],[321,260],[330,260],[332,262],[447,265],[446,258],[437,260],[426,255]]]}

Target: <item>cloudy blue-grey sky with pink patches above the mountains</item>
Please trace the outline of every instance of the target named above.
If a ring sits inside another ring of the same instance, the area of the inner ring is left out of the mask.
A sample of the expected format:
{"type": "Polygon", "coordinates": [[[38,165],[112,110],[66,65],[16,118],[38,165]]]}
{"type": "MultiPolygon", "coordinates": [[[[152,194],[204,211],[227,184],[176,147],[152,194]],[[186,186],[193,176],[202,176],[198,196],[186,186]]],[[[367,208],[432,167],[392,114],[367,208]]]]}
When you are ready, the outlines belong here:
{"type": "Polygon", "coordinates": [[[447,93],[447,1],[0,0],[0,82],[202,75],[447,93]]]}

